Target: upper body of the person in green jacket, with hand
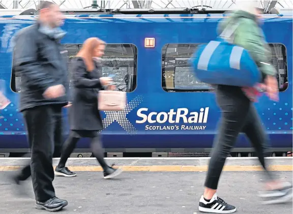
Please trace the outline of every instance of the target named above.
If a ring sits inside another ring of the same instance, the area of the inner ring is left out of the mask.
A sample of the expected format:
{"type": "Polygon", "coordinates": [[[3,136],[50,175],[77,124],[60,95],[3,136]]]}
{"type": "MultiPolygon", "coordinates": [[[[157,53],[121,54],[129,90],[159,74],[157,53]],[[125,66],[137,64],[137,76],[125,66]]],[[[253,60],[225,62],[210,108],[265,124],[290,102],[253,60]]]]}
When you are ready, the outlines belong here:
{"type": "Polygon", "coordinates": [[[253,4],[253,2],[257,1],[245,2],[246,6],[242,10],[232,13],[230,18],[220,22],[217,32],[220,35],[227,26],[233,23],[239,24],[233,35],[233,44],[249,51],[262,74],[263,80],[265,80],[262,87],[265,87],[267,95],[272,100],[278,100],[277,72],[275,67],[270,64],[271,49],[265,41],[262,29],[259,27],[260,20],[258,20],[257,8],[254,8],[255,12],[249,12],[250,4],[253,4]]]}

